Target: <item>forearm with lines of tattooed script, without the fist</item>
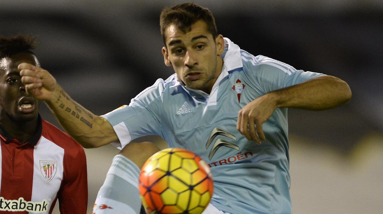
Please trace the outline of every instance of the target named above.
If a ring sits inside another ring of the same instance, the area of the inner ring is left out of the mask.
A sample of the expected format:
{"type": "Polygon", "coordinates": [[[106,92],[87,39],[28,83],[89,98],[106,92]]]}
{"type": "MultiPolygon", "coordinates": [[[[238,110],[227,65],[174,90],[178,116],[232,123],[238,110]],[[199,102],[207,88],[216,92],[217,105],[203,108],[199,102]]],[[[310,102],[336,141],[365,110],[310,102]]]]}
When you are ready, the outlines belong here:
{"type": "Polygon", "coordinates": [[[113,127],[105,118],[96,116],[72,100],[59,85],[46,104],[61,126],[83,147],[92,148],[118,142],[113,127]]]}

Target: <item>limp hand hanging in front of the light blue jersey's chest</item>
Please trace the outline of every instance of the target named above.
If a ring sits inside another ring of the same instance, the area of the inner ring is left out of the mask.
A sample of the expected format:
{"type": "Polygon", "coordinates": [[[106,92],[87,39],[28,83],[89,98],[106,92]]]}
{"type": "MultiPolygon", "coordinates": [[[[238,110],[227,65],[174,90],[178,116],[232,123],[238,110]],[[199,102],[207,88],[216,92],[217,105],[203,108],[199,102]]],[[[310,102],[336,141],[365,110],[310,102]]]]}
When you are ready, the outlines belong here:
{"type": "Polygon", "coordinates": [[[276,108],[277,103],[272,93],[267,93],[247,103],[238,112],[237,130],[248,140],[255,140],[261,144],[261,140],[266,140],[262,123],[270,118],[276,108]],[[256,133],[255,129],[257,129],[256,133]]]}

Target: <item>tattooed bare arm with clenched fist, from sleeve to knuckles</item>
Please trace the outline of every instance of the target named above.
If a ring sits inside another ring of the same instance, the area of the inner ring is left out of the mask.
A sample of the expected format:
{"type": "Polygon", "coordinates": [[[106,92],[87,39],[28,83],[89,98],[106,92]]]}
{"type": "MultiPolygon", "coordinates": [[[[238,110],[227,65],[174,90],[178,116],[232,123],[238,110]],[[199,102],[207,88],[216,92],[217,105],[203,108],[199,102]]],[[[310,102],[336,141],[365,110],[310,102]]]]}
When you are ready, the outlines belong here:
{"type": "Polygon", "coordinates": [[[110,123],[72,100],[47,70],[27,63],[21,63],[18,69],[28,93],[45,101],[61,126],[83,147],[118,142],[110,123]]]}

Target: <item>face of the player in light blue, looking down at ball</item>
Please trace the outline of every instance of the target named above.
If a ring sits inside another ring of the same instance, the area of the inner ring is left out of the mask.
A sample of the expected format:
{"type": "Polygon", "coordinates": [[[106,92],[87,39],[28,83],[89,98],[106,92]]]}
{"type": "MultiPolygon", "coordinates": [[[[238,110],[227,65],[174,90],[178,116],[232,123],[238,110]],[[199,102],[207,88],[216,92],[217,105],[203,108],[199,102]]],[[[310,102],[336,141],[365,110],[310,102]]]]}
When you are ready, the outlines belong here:
{"type": "Polygon", "coordinates": [[[223,36],[214,39],[206,23],[197,21],[188,32],[170,25],[165,30],[165,38],[166,47],[162,48],[165,65],[173,65],[187,87],[210,93],[223,66],[223,36]]]}

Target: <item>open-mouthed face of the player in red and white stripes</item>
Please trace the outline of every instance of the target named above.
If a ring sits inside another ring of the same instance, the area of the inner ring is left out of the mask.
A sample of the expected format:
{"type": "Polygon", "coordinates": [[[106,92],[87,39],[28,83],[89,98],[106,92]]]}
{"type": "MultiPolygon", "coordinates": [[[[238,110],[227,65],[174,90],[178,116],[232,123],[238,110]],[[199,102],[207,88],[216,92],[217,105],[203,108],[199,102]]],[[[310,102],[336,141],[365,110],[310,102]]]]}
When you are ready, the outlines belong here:
{"type": "Polygon", "coordinates": [[[39,101],[29,96],[21,83],[17,69],[21,62],[38,64],[34,55],[29,53],[0,58],[0,118],[8,117],[16,122],[36,119],[39,108],[39,101]]]}

